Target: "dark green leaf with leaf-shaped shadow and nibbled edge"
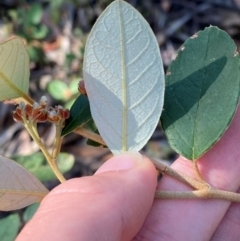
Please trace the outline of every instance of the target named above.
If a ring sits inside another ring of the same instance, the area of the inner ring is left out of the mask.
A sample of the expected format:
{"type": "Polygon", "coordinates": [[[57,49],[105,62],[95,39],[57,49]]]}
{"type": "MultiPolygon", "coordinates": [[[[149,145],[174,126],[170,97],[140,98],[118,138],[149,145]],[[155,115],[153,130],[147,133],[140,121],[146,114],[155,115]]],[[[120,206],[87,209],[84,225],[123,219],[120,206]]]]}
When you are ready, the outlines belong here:
{"type": "Polygon", "coordinates": [[[209,27],[188,39],[166,75],[162,127],[171,147],[199,158],[224,133],[239,98],[239,54],[230,36],[209,27]]]}

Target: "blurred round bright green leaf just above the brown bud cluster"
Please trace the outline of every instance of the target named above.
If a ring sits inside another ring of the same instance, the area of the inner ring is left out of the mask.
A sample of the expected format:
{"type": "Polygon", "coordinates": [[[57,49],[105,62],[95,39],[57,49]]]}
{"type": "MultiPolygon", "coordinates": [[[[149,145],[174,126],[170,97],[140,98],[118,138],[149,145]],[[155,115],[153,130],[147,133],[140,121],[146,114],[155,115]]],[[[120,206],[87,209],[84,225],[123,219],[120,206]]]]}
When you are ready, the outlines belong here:
{"type": "Polygon", "coordinates": [[[49,82],[47,90],[56,100],[68,100],[71,97],[68,85],[60,80],[49,82]]]}

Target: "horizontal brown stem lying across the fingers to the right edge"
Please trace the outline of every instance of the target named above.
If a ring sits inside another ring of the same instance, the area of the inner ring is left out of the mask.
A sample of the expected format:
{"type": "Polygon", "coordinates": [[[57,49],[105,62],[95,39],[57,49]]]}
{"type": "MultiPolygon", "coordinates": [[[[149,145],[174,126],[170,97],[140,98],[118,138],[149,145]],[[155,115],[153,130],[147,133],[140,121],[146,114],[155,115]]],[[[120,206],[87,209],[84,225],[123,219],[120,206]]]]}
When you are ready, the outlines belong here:
{"type": "Polygon", "coordinates": [[[161,199],[221,199],[240,202],[240,194],[217,189],[202,189],[188,192],[156,191],[155,198],[161,199]]]}

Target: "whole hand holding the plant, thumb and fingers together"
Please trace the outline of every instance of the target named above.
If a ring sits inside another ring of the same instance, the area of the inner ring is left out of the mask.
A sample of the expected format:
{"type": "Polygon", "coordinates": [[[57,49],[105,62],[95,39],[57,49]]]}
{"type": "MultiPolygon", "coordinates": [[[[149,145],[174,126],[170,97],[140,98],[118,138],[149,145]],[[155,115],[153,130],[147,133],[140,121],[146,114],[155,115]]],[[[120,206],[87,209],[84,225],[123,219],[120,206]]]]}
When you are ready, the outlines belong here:
{"type": "MultiPolygon", "coordinates": [[[[240,186],[240,109],[230,127],[199,161],[213,187],[240,186]]],[[[172,168],[193,175],[182,157],[172,168]]],[[[156,200],[156,171],[148,158],[126,153],[92,177],[69,180],[52,190],[16,241],[237,241],[240,204],[222,200],[156,200]]],[[[164,176],[160,190],[191,190],[164,176]]]]}

